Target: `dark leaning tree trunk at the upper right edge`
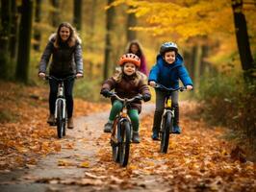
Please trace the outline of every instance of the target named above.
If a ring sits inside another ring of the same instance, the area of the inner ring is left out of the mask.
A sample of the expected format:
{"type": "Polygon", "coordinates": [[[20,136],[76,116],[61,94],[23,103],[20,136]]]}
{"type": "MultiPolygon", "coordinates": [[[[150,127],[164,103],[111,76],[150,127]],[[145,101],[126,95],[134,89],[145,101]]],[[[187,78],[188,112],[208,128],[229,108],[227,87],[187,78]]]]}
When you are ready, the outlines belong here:
{"type": "Polygon", "coordinates": [[[242,12],[243,0],[232,0],[232,9],[234,15],[240,60],[242,63],[243,70],[252,69],[254,68],[254,64],[250,51],[245,16],[242,12]]]}

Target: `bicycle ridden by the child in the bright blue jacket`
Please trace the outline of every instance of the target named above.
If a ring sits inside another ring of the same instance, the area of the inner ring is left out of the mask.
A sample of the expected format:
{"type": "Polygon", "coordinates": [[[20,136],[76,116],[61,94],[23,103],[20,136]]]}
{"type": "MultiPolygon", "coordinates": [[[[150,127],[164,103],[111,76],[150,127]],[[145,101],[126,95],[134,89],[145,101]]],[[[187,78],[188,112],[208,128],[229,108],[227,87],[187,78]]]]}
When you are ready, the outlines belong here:
{"type": "Polygon", "coordinates": [[[160,144],[160,152],[167,153],[168,143],[169,143],[169,133],[173,132],[173,119],[174,119],[174,110],[171,106],[171,92],[173,91],[184,91],[186,90],[186,86],[178,87],[178,88],[167,88],[163,84],[156,84],[155,88],[159,90],[166,91],[166,101],[165,101],[165,110],[162,115],[162,123],[160,130],[161,144],[160,144]]]}

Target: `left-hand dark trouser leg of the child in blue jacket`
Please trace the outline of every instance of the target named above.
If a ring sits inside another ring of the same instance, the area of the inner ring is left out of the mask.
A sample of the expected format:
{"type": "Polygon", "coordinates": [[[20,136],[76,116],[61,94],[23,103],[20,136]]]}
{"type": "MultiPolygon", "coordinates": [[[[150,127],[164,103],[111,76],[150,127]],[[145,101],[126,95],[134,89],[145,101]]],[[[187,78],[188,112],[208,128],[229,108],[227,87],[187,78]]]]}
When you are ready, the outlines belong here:
{"type": "Polygon", "coordinates": [[[162,115],[165,109],[165,100],[165,93],[156,90],[156,109],[154,114],[153,132],[156,132],[157,134],[160,131],[162,115]]]}

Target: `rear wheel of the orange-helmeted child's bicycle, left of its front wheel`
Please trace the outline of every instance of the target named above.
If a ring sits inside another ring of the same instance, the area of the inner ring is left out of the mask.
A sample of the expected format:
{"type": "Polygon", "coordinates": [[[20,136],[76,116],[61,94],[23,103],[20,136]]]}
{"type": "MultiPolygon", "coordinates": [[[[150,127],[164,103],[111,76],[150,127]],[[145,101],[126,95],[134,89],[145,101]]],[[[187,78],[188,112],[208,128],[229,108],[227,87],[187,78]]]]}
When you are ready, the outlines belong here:
{"type": "Polygon", "coordinates": [[[114,124],[113,124],[113,129],[112,129],[112,134],[111,134],[112,157],[115,162],[119,162],[117,126],[118,126],[118,118],[115,118],[114,124]]]}

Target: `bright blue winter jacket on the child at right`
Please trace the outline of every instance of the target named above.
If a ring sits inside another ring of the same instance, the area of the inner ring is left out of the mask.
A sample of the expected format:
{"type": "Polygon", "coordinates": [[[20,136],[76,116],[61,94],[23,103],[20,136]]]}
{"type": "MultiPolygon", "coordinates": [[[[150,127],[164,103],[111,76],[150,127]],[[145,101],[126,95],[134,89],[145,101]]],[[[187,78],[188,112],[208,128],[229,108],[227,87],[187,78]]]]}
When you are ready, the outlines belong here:
{"type": "Polygon", "coordinates": [[[163,84],[168,88],[178,88],[179,79],[182,84],[192,85],[192,79],[186,67],[183,65],[183,58],[177,55],[176,60],[172,64],[167,64],[161,55],[157,56],[157,63],[150,71],[148,82],[154,81],[163,84]]]}

